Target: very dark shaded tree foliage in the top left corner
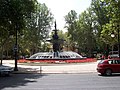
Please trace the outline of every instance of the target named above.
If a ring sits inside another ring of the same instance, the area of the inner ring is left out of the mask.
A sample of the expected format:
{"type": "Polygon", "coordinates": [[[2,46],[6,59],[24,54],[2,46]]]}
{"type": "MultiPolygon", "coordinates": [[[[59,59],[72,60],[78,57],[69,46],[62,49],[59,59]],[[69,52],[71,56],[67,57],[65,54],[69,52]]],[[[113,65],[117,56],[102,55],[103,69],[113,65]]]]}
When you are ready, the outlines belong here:
{"type": "Polygon", "coordinates": [[[1,49],[10,36],[25,28],[26,19],[34,12],[35,0],[0,0],[1,49]],[[5,33],[5,34],[4,34],[5,33]]]}

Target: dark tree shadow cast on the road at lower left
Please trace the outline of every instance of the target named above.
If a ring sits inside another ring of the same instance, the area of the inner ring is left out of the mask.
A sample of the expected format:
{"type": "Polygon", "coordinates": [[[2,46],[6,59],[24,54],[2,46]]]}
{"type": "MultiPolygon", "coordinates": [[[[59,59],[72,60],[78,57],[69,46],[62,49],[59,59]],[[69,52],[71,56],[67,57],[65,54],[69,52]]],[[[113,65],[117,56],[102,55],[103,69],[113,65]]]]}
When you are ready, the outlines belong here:
{"type": "MultiPolygon", "coordinates": [[[[21,68],[22,69],[22,68],[21,68]]],[[[38,73],[18,73],[11,74],[9,77],[0,77],[0,90],[5,88],[14,88],[25,86],[27,83],[37,82],[38,78],[46,76],[45,74],[38,73]]]]}

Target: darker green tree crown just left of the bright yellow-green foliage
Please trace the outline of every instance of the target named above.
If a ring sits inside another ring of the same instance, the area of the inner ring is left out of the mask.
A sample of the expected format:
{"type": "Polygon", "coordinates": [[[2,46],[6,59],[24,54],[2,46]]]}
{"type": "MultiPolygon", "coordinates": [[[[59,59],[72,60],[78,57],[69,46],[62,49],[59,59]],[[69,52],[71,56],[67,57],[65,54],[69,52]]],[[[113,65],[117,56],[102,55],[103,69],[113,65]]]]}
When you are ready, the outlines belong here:
{"type": "Polygon", "coordinates": [[[92,0],[91,8],[94,14],[97,16],[96,20],[100,26],[99,35],[102,30],[102,25],[109,22],[109,17],[107,15],[108,9],[106,8],[106,3],[101,0],[92,0]]]}

